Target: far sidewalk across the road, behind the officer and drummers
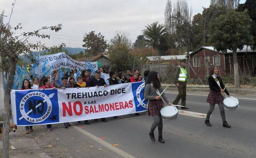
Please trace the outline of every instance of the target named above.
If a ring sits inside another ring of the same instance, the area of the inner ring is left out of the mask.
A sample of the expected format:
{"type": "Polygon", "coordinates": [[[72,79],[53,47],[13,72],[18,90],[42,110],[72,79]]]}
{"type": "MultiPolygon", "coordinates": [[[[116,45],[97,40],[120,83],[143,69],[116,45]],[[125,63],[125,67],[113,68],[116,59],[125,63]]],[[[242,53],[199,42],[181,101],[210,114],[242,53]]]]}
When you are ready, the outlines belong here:
{"type": "MultiPolygon", "coordinates": [[[[162,84],[163,88],[169,86],[168,90],[177,90],[174,84],[162,84]]],[[[201,91],[201,92],[209,92],[210,88],[209,85],[189,85],[187,84],[187,91],[201,91]]],[[[229,93],[235,93],[240,95],[255,95],[256,96],[256,88],[255,87],[242,87],[242,88],[235,88],[233,86],[227,86],[227,90],[229,93]]]]}

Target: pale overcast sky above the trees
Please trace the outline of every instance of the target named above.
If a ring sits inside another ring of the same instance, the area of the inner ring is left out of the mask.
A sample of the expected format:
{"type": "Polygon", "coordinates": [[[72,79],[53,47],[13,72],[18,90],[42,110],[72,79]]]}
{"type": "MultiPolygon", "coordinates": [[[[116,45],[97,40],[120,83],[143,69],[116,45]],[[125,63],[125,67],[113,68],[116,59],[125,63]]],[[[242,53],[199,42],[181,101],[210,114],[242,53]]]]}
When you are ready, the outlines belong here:
{"type": "MultiPolygon", "coordinates": [[[[164,23],[167,0],[16,0],[10,24],[22,23],[17,33],[36,30],[42,26],[61,23],[62,30],[51,33],[50,40],[41,40],[47,46],[66,43],[67,47],[82,47],[84,33],[95,30],[106,40],[116,31],[126,31],[134,42],[146,24],[154,21],[164,23]],[[62,39],[57,39],[62,38],[62,39]]],[[[245,0],[241,0],[244,3],[245,0]]],[[[172,0],[174,2],[174,0],[172,0]]],[[[210,0],[187,0],[193,15],[208,7],[210,0]]],[[[5,10],[8,23],[14,0],[0,0],[0,11],[5,10]]],[[[30,39],[35,42],[38,38],[30,39]]]]}

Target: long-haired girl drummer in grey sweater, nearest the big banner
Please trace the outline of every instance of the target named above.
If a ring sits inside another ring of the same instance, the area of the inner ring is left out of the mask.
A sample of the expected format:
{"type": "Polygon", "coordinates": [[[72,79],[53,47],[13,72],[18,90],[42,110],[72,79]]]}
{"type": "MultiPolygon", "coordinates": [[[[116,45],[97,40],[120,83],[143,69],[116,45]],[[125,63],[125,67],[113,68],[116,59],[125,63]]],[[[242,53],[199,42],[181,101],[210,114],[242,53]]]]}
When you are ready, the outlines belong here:
{"type": "Polygon", "coordinates": [[[165,140],[163,140],[162,137],[163,120],[160,113],[160,110],[164,106],[162,98],[168,103],[168,105],[172,105],[172,103],[169,102],[165,96],[165,93],[160,96],[160,94],[163,92],[163,88],[159,81],[158,72],[151,71],[148,75],[148,80],[146,83],[144,99],[148,100],[148,115],[152,116],[154,119],[149,132],[149,137],[152,141],[155,141],[154,131],[158,126],[158,141],[165,143],[165,140]]]}

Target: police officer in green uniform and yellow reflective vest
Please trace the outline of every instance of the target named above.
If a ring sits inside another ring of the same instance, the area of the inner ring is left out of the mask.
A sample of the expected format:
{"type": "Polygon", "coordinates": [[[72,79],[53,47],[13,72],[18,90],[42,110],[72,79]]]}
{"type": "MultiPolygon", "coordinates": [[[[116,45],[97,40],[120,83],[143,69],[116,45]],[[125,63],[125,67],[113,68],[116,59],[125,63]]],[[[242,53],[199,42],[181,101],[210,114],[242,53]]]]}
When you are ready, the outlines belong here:
{"type": "MultiPolygon", "coordinates": [[[[178,88],[179,94],[176,99],[173,101],[174,105],[177,105],[181,99],[181,109],[189,109],[186,107],[186,86],[187,86],[187,71],[186,71],[186,59],[180,60],[180,65],[175,68],[175,84],[178,88]]],[[[176,106],[178,108],[178,106],[176,106]]]]}

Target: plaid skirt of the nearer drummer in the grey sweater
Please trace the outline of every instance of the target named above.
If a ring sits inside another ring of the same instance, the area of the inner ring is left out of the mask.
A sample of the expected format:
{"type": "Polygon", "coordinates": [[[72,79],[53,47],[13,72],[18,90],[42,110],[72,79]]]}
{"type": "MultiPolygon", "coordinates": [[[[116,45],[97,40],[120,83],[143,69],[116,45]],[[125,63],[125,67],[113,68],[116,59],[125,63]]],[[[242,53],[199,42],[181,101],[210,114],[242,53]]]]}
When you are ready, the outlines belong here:
{"type": "Polygon", "coordinates": [[[160,110],[163,107],[163,100],[159,99],[159,100],[149,100],[148,102],[148,115],[152,116],[152,115],[160,115],[160,110]]]}

